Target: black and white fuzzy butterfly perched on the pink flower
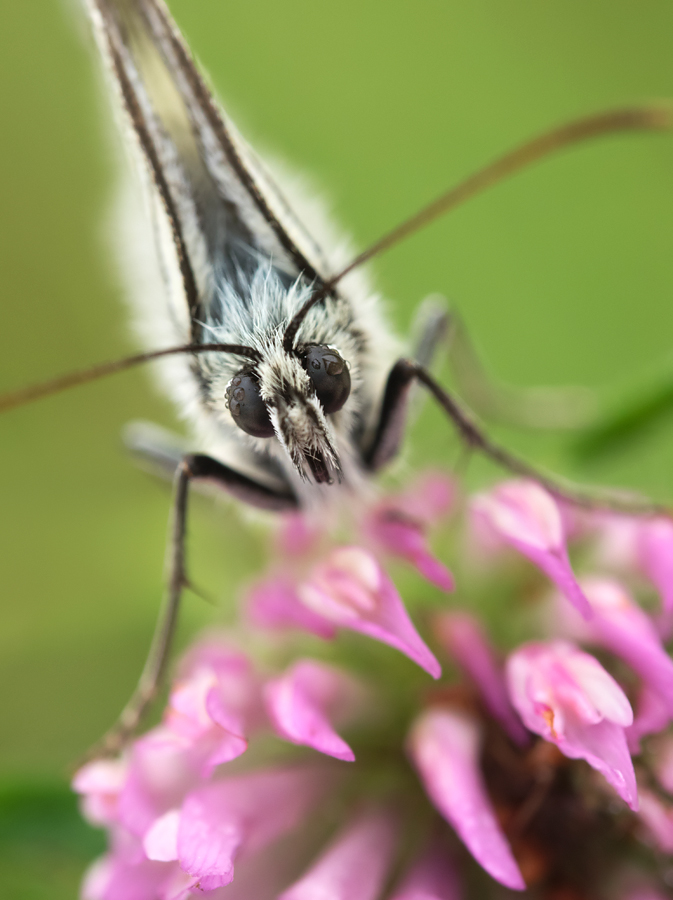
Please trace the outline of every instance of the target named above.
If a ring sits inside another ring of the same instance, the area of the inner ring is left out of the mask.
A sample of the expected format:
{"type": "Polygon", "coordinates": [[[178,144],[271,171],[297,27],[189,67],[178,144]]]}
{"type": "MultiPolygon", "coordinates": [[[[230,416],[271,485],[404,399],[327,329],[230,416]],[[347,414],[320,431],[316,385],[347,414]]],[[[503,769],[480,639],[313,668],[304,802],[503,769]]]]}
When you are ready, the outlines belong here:
{"type": "Polygon", "coordinates": [[[493,444],[432,375],[446,312],[432,309],[416,351],[400,355],[362,265],[536,159],[612,131],[669,127],[671,116],[665,107],[632,107],[544,134],[348,260],[334,250],[331,223],[314,213],[307,227],[305,198],[291,184],[278,186],[278,174],[222,111],[162,0],[87,6],[145,197],[146,242],[136,251],[155,287],[143,280],[132,293],[148,349],[6,395],[0,410],[160,359],[167,391],[200,448],[176,453],[148,429],[131,436],[138,454],[174,477],[175,499],[164,609],[138,689],[105,741],[114,750],[136,728],[166,665],[188,584],[192,483],[269,511],[328,508],[337,494],[361,492],[396,457],[420,383],[468,447],[560,492],[493,444]]]}

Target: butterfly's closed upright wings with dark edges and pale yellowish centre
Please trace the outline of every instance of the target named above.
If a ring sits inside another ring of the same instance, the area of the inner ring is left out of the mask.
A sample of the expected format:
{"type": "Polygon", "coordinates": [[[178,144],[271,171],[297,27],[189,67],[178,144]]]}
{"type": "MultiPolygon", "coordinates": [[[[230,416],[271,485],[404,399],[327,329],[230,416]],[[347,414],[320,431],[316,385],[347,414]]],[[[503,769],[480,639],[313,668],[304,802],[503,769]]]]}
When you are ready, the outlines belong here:
{"type": "Polygon", "coordinates": [[[162,0],[88,3],[166,214],[190,339],[204,339],[216,282],[243,296],[260,259],[319,288],[330,274],[319,251],[226,121],[162,0]]]}

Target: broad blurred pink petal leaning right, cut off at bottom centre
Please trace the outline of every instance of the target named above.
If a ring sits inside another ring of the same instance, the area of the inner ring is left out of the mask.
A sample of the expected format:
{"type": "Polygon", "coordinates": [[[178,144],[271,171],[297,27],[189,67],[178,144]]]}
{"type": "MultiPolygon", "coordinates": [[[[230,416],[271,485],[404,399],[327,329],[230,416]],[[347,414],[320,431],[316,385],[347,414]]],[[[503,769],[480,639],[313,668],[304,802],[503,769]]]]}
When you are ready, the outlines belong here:
{"type": "Polygon", "coordinates": [[[309,871],[279,900],[376,900],[397,842],[388,812],[370,811],[351,822],[309,871]]]}

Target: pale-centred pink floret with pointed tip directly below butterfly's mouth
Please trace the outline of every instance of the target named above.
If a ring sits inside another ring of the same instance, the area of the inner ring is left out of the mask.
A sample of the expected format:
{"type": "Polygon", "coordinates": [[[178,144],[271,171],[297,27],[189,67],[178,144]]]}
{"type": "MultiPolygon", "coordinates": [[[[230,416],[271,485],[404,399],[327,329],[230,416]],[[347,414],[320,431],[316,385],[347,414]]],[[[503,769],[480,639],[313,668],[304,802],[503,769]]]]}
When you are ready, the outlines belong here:
{"type": "Polygon", "coordinates": [[[433,678],[441,667],[414,628],[395,585],[360,547],[339,547],[298,588],[312,612],[400,650],[433,678]]]}

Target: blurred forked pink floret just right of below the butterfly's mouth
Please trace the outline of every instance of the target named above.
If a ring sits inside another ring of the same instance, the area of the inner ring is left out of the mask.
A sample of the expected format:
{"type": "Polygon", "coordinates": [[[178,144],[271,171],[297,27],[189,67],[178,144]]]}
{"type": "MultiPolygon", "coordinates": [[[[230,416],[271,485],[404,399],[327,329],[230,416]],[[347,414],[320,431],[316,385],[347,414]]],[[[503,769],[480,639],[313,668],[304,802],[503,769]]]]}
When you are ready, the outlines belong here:
{"type": "Polygon", "coordinates": [[[453,576],[428,550],[425,532],[448,512],[454,485],[439,474],[427,475],[403,494],[387,497],[364,520],[364,531],[385,553],[405,559],[443,591],[453,576]]]}

